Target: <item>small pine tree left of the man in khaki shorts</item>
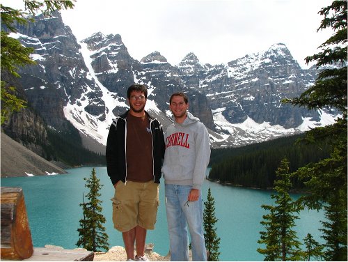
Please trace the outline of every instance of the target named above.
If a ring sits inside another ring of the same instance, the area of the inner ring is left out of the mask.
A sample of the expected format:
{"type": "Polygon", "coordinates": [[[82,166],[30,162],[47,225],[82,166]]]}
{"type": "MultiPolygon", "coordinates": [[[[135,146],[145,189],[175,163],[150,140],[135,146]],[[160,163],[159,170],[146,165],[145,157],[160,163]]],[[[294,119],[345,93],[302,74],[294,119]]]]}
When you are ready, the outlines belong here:
{"type": "Polygon", "coordinates": [[[106,219],[102,215],[102,206],[100,206],[102,201],[98,199],[102,185],[100,185],[100,179],[97,178],[94,168],[90,177],[88,179],[84,178],[84,180],[86,180],[85,187],[89,190],[86,195],[88,202],[85,203],[84,197],[84,203],[79,204],[79,206],[82,206],[84,218],[79,220],[80,228],[77,229],[79,240],[76,245],[93,252],[100,252],[100,248],[109,249],[109,243],[107,242],[109,236],[105,233],[105,228],[102,225],[106,222],[106,219]]]}

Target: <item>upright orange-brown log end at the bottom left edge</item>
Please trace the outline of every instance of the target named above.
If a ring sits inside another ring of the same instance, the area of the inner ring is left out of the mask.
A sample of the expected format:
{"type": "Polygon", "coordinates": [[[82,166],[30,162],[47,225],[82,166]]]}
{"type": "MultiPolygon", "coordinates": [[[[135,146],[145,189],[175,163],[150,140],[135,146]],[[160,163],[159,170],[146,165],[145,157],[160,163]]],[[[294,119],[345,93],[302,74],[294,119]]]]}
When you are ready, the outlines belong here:
{"type": "Polygon", "coordinates": [[[21,187],[1,187],[1,259],[28,259],[33,254],[21,187]]]}

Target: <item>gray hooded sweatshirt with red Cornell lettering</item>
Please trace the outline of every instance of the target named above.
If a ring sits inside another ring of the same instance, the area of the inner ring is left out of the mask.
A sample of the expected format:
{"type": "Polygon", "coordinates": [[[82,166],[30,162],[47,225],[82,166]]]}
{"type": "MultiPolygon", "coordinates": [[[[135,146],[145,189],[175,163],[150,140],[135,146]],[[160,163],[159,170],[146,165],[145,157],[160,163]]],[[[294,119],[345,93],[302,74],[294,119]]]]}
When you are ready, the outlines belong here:
{"type": "Polygon", "coordinates": [[[205,125],[187,112],[182,124],[169,125],[164,133],[166,151],[161,169],[164,183],[191,185],[200,190],[210,158],[209,134],[205,125]]]}

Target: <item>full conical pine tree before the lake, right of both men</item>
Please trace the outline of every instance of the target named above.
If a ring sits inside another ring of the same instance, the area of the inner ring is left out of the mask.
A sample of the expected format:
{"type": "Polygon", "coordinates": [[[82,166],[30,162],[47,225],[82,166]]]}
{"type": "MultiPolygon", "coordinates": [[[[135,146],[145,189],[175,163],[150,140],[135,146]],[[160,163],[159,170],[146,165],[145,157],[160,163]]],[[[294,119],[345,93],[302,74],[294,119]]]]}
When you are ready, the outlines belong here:
{"type": "Polygon", "coordinates": [[[262,205],[262,208],[269,210],[270,213],[263,216],[264,221],[261,224],[266,227],[266,231],[260,232],[261,238],[258,240],[259,244],[264,244],[266,247],[258,248],[258,252],[265,255],[265,261],[300,260],[301,243],[297,240],[296,232],[292,230],[295,219],[299,218],[293,213],[299,213],[299,208],[294,206],[289,194],[292,183],[289,162],[286,158],[280,162],[276,178],[274,190],[277,194],[271,194],[271,198],[275,199],[275,206],[262,205]]]}

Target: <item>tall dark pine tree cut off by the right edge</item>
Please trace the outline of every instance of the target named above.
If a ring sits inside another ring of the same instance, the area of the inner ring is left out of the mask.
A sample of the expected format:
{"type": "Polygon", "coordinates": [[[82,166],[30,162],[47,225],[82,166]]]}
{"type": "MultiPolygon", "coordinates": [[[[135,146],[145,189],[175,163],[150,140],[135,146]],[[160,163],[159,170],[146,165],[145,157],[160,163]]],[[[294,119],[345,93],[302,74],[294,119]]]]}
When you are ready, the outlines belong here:
{"type": "Polygon", "coordinates": [[[333,125],[306,132],[306,141],[320,144],[330,139],[333,150],[329,158],[308,164],[295,175],[304,181],[310,194],[299,203],[310,208],[324,207],[324,259],[347,261],[347,0],[333,1],[319,12],[324,19],[319,30],[332,28],[335,33],[306,62],[317,61],[321,70],[313,86],[299,98],[285,100],[308,109],[338,110],[333,125]],[[324,67],[329,66],[329,67],[324,67]]]}

